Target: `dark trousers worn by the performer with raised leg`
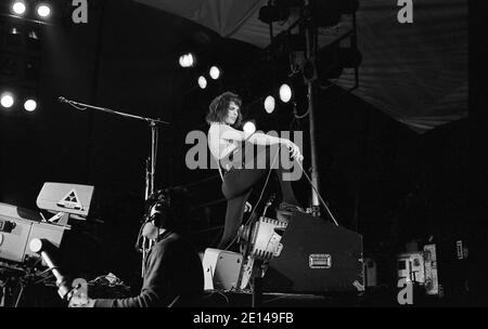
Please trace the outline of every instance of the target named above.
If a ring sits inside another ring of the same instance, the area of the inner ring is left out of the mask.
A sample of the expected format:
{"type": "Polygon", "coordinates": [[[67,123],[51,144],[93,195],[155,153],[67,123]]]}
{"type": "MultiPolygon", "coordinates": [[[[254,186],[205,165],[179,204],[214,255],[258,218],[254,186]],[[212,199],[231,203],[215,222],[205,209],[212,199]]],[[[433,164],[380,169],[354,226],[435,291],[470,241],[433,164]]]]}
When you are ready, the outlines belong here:
{"type": "Polygon", "coordinates": [[[242,157],[234,155],[233,168],[223,175],[222,193],[227,199],[227,211],[223,234],[218,244],[218,249],[228,249],[233,242],[241,226],[245,205],[252,188],[266,177],[270,170],[278,174],[283,201],[298,205],[291,182],[283,180],[283,174],[291,171],[291,169],[283,168],[281,161],[281,159],[290,156],[288,150],[279,145],[257,146],[256,148],[258,148],[257,152],[251,152],[255,149],[254,146],[245,147],[246,150],[242,157]]]}

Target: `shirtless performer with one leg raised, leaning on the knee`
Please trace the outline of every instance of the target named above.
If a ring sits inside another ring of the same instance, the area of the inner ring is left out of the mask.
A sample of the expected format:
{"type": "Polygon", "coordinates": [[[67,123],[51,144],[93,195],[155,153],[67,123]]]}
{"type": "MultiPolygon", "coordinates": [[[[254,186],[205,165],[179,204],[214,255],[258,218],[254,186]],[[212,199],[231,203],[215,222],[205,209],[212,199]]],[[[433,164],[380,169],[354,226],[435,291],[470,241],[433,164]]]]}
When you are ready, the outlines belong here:
{"type": "Polygon", "coordinates": [[[280,161],[285,158],[281,157],[281,149],[286,152],[288,159],[291,154],[292,158],[301,160],[299,147],[286,139],[257,132],[248,134],[240,130],[242,126],[241,105],[242,100],[237,94],[224,92],[211,101],[206,117],[206,121],[210,126],[208,147],[219,164],[222,193],[228,200],[224,229],[217,246],[218,249],[229,249],[232,246],[244,215],[248,192],[271,169],[278,173],[281,186],[282,203],[279,210],[303,211],[293,193],[291,181],[283,180],[283,174],[290,170],[284,169],[280,161]],[[248,143],[258,145],[256,156],[254,156],[254,146],[245,146],[248,143]],[[275,147],[271,147],[273,145],[275,147]],[[283,145],[286,148],[282,148],[283,145]],[[275,159],[278,161],[274,161],[275,159]],[[257,163],[266,163],[266,168],[257,166],[257,163]]]}

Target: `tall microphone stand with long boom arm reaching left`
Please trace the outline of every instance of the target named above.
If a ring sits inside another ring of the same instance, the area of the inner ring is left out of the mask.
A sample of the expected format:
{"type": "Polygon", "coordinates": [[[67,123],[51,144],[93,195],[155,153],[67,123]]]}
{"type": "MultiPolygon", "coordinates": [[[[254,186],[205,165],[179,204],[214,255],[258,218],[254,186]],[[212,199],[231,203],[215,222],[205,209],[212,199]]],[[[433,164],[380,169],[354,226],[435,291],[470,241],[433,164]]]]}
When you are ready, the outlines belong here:
{"type": "MultiPolygon", "coordinates": [[[[126,117],[126,118],[142,120],[142,121],[145,121],[149,123],[149,126],[151,128],[151,155],[150,155],[150,158],[147,159],[147,162],[145,166],[145,200],[147,201],[149,197],[154,193],[154,180],[156,177],[156,157],[157,157],[157,147],[156,146],[157,146],[157,137],[158,137],[157,124],[158,123],[159,124],[169,124],[169,122],[166,122],[166,121],[163,121],[159,119],[152,119],[152,118],[136,116],[136,115],[131,115],[131,114],[127,114],[127,113],[123,113],[123,111],[117,111],[117,110],[113,110],[113,109],[105,108],[105,107],[99,107],[99,106],[93,106],[93,105],[89,105],[89,104],[85,104],[85,103],[80,103],[80,102],[75,102],[75,101],[67,100],[63,96],[60,96],[57,100],[61,103],[66,103],[79,110],[86,110],[87,108],[90,108],[90,109],[101,110],[104,113],[108,113],[112,115],[117,115],[117,116],[121,116],[121,117],[126,117]]],[[[145,274],[144,264],[145,264],[145,256],[146,256],[146,251],[147,251],[146,245],[147,245],[147,240],[145,237],[143,237],[143,239],[142,239],[142,272],[141,272],[142,277],[144,277],[144,274],[145,274]]],[[[151,246],[149,246],[149,247],[151,247],[151,246]]]]}

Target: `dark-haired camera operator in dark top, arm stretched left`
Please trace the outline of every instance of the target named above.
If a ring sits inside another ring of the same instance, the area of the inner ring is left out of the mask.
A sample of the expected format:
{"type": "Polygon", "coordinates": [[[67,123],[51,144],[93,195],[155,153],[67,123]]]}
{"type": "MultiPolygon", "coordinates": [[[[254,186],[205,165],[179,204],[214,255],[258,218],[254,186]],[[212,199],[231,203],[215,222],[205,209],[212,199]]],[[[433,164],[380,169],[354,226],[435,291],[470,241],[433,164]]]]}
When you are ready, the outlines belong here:
{"type": "MultiPolygon", "coordinates": [[[[70,307],[191,307],[203,294],[202,262],[184,233],[189,225],[185,188],[158,190],[149,200],[150,214],[142,234],[155,245],[145,259],[139,295],[128,299],[70,299],[70,307]]],[[[88,292],[89,293],[89,292],[88,292]]]]}

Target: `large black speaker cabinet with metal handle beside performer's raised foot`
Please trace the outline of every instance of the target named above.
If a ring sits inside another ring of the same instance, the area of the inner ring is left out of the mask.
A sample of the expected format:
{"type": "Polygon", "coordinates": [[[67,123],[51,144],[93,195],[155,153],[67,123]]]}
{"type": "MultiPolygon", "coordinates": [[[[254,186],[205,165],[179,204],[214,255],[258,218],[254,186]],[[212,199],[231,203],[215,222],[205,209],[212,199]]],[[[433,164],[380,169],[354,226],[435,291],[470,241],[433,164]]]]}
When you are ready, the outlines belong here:
{"type": "Polygon", "coordinates": [[[269,262],[264,291],[363,291],[362,236],[321,218],[294,213],[269,262]]]}

